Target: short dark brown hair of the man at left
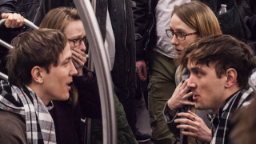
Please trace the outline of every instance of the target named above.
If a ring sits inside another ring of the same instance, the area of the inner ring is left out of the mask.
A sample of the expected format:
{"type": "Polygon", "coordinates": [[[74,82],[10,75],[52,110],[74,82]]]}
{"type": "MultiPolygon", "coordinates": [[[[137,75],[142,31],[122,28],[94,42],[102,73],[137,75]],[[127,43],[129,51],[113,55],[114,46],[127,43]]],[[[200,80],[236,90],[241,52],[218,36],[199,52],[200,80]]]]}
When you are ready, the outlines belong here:
{"type": "Polygon", "coordinates": [[[19,34],[12,41],[14,49],[7,55],[6,68],[10,85],[23,87],[31,83],[34,66],[58,66],[58,56],[66,46],[66,36],[59,30],[38,29],[19,34]]]}

